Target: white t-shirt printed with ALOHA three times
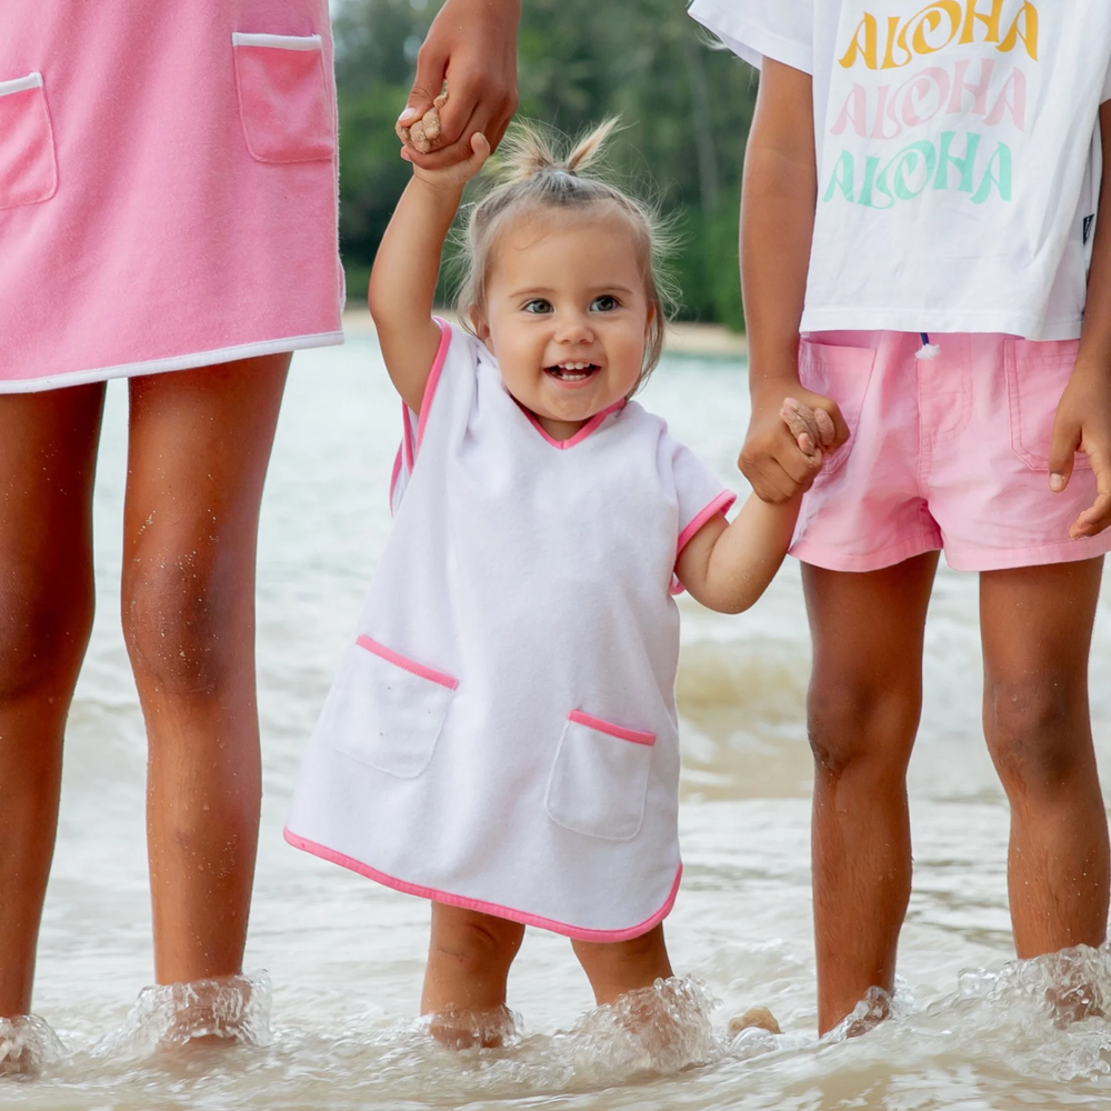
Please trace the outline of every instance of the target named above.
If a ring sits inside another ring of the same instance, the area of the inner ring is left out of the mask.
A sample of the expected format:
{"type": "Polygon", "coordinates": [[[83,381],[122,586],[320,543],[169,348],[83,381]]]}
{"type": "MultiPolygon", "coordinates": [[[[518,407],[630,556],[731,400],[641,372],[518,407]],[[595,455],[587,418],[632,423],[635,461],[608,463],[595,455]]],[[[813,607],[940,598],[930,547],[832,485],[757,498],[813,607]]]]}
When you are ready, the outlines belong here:
{"type": "Polygon", "coordinates": [[[1109,0],[694,0],[690,12],[745,61],[813,77],[803,331],[1080,334],[1109,0]]]}

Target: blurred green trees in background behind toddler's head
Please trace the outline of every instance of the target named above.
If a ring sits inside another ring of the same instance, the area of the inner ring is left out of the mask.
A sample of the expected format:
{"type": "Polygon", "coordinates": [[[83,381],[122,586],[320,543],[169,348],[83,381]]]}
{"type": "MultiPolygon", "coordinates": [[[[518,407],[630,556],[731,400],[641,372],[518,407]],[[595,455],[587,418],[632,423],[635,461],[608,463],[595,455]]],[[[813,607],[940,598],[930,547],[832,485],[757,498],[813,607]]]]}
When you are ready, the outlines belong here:
{"type": "MultiPolygon", "coordinates": [[[[340,240],[353,300],[409,178],[393,123],[438,7],[346,0],[336,17],[340,240]]],[[[621,116],[611,163],[674,221],[681,317],[741,328],[737,209],[754,72],[710,49],[682,0],[526,0],[518,73],[522,116],[570,134],[621,116]]]]}

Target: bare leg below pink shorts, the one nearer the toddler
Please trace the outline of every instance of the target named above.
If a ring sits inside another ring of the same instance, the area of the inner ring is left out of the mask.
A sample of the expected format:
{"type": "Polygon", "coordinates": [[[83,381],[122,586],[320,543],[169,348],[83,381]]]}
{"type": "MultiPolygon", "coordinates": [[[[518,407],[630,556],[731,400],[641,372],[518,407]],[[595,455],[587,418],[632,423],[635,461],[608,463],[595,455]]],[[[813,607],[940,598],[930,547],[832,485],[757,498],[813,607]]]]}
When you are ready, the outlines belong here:
{"type": "Polygon", "coordinates": [[[890,991],[910,898],[907,764],[922,708],[933,553],[867,574],[803,567],[814,641],[808,707],[818,1025],[890,991]]]}

